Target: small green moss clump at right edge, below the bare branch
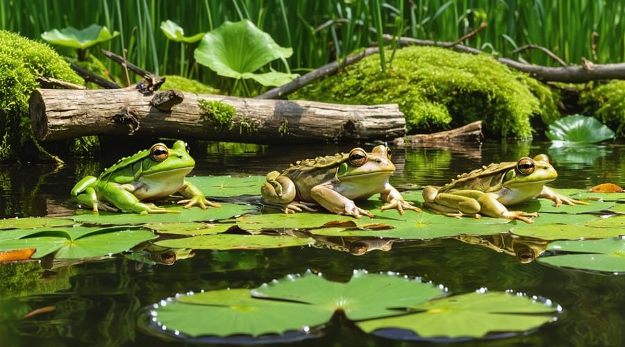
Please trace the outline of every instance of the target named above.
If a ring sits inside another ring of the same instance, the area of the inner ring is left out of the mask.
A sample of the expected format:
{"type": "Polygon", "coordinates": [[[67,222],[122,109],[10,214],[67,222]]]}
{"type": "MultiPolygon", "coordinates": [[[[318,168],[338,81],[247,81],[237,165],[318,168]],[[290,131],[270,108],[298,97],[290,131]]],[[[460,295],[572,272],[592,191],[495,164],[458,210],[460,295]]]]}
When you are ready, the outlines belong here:
{"type": "Polygon", "coordinates": [[[581,91],[579,103],[586,115],[600,119],[617,137],[625,137],[625,81],[593,83],[581,91]]]}

